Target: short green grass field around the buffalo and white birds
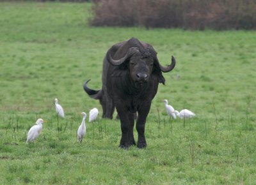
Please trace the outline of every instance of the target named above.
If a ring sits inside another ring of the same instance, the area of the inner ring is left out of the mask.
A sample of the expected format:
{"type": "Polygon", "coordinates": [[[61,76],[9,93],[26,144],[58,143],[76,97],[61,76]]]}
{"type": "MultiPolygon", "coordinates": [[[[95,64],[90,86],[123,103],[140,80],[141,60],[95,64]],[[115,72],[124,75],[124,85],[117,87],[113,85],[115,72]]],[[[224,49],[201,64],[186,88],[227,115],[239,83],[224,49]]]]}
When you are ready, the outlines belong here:
{"type": "Polygon", "coordinates": [[[90,6],[0,3],[0,184],[255,184],[255,31],[89,27],[90,6]],[[104,54],[132,36],[161,64],[177,59],[152,102],[148,147],[119,149],[120,122],[106,119],[78,144],[77,113],[102,112],[83,82],[100,89],[104,54]],[[170,122],[163,99],[196,117],[170,122]],[[26,144],[38,117],[48,122],[26,144]]]}

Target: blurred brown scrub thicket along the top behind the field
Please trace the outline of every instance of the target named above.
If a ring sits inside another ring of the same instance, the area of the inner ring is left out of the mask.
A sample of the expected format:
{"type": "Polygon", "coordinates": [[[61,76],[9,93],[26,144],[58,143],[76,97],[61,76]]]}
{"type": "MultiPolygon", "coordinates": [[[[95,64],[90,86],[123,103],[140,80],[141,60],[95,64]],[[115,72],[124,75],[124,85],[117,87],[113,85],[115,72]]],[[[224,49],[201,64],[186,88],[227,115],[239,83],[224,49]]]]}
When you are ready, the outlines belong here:
{"type": "Polygon", "coordinates": [[[95,1],[93,26],[256,29],[256,1],[95,1]]]}

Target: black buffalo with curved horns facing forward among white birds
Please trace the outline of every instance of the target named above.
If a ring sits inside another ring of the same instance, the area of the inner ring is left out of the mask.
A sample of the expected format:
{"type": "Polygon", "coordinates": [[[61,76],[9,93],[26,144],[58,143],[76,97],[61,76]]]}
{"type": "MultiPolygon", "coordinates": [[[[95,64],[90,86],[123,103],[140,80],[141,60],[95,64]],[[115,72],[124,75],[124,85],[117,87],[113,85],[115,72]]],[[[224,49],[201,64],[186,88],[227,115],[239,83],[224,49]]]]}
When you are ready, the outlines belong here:
{"type": "Polygon", "coordinates": [[[136,129],[138,148],[147,146],[145,123],[151,101],[157,93],[159,83],[164,84],[162,72],[172,71],[172,63],[163,67],[157,59],[154,48],[136,38],[116,43],[107,52],[103,61],[102,89],[89,89],[84,82],[84,91],[94,99],[100,100],[103,117],[113,118],[116,108],[121,121],[122,138],[119,147],[136,145],[133,135],[134,114],[138,112],[136,129]]]}

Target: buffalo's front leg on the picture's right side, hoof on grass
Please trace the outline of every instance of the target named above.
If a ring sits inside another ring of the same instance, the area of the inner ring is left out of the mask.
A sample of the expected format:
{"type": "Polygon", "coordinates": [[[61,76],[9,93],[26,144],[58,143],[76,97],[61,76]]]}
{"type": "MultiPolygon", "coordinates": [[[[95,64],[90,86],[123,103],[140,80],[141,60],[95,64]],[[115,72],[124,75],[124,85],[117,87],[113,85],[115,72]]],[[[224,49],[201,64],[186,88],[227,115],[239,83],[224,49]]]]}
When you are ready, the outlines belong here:
{"type": "Polygon", "coordinates": [[[136,122],[136,129],[138,131],[138,144],[139,149],[147,147],[147,142],[145,138],[145,124],[147,121],[147,115],[150,110],[151,103],[145,104],[145,106],[139,108],[138,119],[136,122]]]}

